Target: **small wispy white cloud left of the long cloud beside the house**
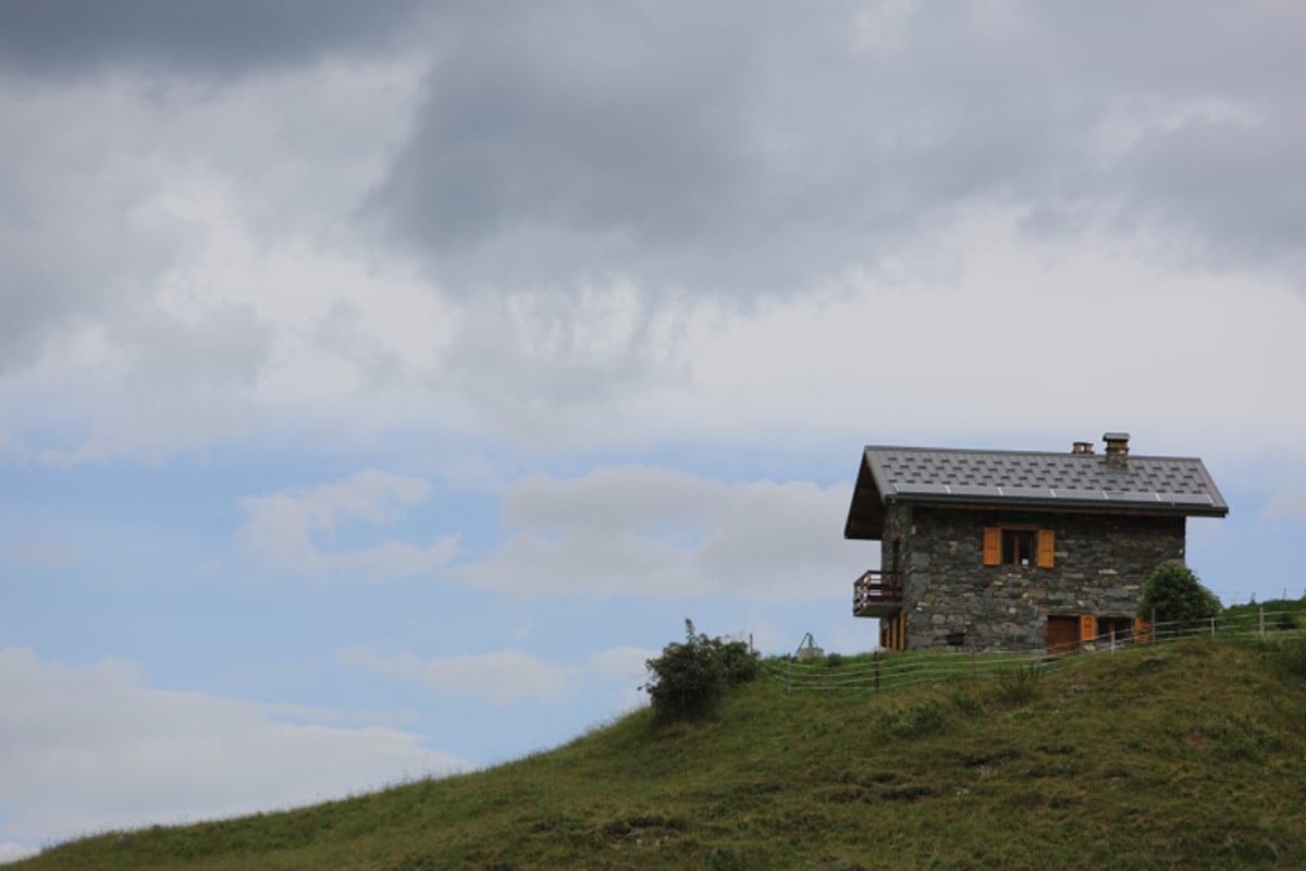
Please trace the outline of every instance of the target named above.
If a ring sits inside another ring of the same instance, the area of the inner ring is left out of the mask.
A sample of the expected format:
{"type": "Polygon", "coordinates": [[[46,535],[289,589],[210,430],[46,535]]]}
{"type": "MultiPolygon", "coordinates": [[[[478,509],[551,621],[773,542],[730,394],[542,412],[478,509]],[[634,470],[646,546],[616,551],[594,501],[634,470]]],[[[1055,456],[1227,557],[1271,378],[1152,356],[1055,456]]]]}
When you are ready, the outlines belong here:
{"type": "Polygon", "coordinates": [[[248,496],[242,501],[246,521],[236,541],[273,569],[316,578],[422,575],[453,559],[456,538],[439,538],[424,547],[387,538],[371,547],[340,551],[324,550],[317,539],[330,538],[349,522],[394,522],[430,495],[424,478],[366,470],[332,484],[248,496]]]}

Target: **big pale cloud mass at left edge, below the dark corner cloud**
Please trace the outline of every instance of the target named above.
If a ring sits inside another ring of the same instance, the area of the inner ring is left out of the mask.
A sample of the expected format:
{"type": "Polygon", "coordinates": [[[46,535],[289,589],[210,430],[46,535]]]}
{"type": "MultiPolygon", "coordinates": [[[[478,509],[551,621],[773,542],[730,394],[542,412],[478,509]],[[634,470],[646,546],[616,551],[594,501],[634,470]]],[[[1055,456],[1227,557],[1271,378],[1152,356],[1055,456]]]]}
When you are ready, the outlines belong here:
{"type": "Polygon", "coordinates": [[[366,376],[379,358],[427,362],[439,308],[338,231],[402,140],[423,67],[0,84],[17,125],[0,161],[0,375],[33,397],[14,432],[39,431],[55,465],[158,462],[300,420],[306,394],[379,396],[398,414],[366,376]],[[313,334],[355,298],[360,323],[313,334]]]}

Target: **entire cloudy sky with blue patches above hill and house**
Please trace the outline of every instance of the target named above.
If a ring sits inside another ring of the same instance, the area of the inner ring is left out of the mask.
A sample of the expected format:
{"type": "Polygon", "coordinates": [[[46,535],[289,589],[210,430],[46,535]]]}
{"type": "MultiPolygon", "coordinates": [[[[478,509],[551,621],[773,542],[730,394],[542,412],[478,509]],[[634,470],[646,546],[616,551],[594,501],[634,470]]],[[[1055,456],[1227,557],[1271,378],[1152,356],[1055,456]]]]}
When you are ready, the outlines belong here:
{"type": "Polygon", "coordinates": [[[872,645],[865,444],[1200,456],[1306,593],[1286,3],[0,5],[0,857],[872,645]]]}

